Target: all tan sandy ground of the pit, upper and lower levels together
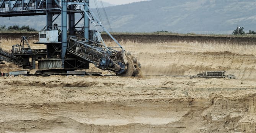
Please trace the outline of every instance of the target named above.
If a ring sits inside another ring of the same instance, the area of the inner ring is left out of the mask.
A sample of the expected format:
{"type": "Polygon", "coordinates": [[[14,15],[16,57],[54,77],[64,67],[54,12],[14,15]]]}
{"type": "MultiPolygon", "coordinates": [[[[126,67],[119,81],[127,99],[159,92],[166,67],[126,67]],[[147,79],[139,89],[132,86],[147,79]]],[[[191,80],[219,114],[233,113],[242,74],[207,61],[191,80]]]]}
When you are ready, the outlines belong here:
{"type": "MultiPolygon", "coordinates": [[[[8,50],[20,40],[1,42],[8,50]]],[[[142,78],[0,77],[0,133],[256,132],[256,45],[120,43],[139,59],[142,78]],[[214,70],[236,79],[170,76],[214,70]]]]}

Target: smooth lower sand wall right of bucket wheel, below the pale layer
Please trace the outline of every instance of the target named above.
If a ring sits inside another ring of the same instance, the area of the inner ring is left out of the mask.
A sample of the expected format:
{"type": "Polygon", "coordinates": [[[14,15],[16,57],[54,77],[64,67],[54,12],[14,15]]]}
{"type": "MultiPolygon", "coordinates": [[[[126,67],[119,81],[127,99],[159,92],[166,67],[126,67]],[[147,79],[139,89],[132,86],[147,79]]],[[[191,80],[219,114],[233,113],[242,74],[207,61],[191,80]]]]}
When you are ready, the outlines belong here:
{"type": "Polygon", "coordinates": [[[255,55],[231,52],[166,52],[139,54],[145,75],[195,75],[204,71],[226,71],[237,79],[256,78],[255,55]]]}

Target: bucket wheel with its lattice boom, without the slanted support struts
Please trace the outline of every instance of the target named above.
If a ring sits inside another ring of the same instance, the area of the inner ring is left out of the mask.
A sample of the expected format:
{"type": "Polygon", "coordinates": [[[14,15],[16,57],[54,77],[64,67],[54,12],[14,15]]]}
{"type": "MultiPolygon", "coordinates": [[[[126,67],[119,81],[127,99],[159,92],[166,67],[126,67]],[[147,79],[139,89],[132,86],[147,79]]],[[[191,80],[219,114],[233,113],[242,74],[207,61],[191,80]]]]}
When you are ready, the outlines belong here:
{"type": "Polygon", "coordinates": [[[114,71],[117,76],[140,76],[140,63],[124,49],[114,48],[93,41],[83,41],[68,37],[68,54],[75,55],[81,61],[93,63],[101,70],[114,71]]]}

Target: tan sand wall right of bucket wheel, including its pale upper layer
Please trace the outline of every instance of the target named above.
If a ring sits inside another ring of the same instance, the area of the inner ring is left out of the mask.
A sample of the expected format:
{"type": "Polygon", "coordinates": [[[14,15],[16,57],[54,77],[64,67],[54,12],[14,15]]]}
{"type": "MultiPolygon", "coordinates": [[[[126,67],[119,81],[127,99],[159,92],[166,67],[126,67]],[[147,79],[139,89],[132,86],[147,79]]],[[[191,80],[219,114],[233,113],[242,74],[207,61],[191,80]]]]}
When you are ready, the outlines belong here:
{"type": "Polygon", "coordinates": [[[138,57],[144,75],[226,71],[237,79],[256,79],[256,45],[128,42],[125,46],[138,57]]]}

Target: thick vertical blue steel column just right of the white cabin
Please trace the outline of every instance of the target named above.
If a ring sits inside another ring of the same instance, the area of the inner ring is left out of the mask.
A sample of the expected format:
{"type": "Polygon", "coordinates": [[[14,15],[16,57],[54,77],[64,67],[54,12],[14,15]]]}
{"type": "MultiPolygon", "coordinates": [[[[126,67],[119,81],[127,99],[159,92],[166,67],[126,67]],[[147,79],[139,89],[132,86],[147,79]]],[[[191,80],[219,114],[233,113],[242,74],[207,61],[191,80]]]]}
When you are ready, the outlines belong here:
{"type": "Polygon", "coordinates": [[[61,36],[62,36],[62,53],[61,53],[61,59],[62,59],[62,68],[64,68],[64,62],[65,62],[65,54],[67,52],[67,2],[66,0],[61,0],[62,3],[62,10],[61,10],[61,36]]]}

